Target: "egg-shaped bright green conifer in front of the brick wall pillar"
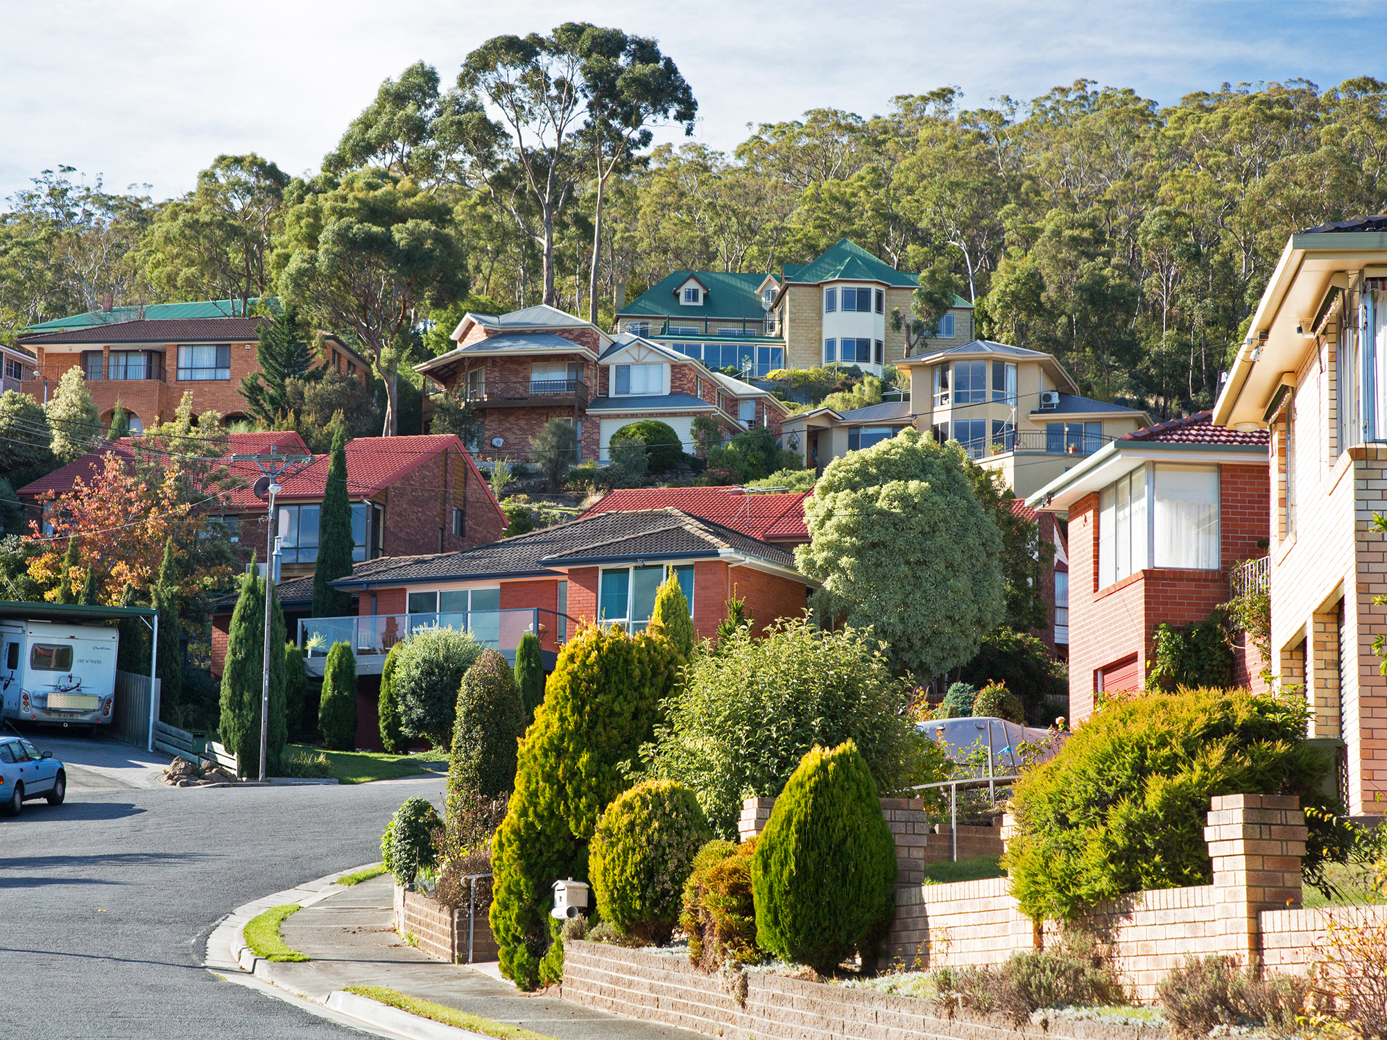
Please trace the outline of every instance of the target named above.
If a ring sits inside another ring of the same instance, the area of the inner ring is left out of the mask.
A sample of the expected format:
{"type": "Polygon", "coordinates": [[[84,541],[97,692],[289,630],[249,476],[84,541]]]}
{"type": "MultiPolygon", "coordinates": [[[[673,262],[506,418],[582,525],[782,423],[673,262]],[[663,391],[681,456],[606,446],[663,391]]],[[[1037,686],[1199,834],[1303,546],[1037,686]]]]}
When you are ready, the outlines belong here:
{"type": "Polygon", "coordinates": [[[896,840],[857,745],[811,749],[752,854],[757,944],[820,975],[853,951],[872,962],[895,885],[896,840]]]}

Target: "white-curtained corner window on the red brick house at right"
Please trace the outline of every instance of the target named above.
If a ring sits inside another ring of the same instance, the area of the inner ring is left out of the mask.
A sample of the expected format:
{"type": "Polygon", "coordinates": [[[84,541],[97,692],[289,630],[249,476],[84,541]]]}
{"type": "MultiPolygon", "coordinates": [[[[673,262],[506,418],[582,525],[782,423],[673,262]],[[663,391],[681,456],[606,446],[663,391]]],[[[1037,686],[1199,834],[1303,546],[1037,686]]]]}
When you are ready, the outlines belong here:
{"type": "Polygon", "coordinates": [[[1219,570],[1216,466],[1148,462],[1099,492],[1099,588],[1147,567],[1219,570]]]}

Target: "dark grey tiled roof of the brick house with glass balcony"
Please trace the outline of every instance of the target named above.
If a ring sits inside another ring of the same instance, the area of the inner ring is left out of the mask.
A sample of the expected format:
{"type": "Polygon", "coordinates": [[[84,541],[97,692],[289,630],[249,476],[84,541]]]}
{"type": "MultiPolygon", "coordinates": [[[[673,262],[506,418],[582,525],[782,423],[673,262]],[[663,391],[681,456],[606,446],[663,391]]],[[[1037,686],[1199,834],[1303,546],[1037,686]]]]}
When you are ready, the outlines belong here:
{"type": "Polygon", "coordinates": [[[648,557],[714,556],[720,549],[793,567],[795,556],[778,545],[692,517],[678,509],[596,513],[566,524],[434,556],[393,556],[358,563],[334,585],[416,584],[487,577],[552,574],[551,564],[599,563],[648,557]]]}

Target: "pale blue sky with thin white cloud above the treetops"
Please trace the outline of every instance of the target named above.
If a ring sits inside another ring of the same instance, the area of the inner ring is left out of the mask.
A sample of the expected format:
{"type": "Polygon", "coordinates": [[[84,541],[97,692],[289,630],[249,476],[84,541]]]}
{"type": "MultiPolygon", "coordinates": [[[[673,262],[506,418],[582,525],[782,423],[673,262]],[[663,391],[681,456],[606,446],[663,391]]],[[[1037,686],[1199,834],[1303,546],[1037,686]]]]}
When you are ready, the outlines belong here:
{"type": "Polygon", "coordinates": [[[315,172],[383,79],[422,60],[451,85],[484,40],[565,21],[657,39],[699,101],[694,140],[724,150],[748,123],[870,116],[945,85],[965,107],[1080,78],[1169,104],[1223,82],[1387,78],[1361,46],[1387,8],[1366,1],[0,0],[0,200],[58,164],[157,200],[219,154],[315,172]]]}

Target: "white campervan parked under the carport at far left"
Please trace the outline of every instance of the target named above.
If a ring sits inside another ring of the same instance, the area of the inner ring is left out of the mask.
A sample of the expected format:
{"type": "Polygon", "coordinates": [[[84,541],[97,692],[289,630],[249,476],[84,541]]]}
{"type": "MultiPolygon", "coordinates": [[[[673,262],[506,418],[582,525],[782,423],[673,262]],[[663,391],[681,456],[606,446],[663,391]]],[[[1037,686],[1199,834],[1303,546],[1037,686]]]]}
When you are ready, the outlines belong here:
{"type": "Polygon", "coordinates": [[[110,725],[119,641],[108,625],[0,621],[4,717],[110,725]]]}

